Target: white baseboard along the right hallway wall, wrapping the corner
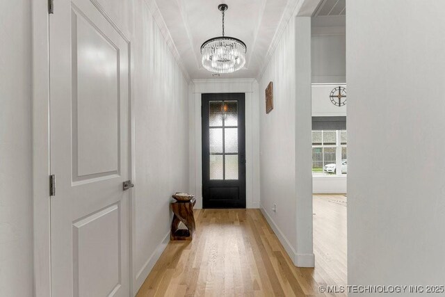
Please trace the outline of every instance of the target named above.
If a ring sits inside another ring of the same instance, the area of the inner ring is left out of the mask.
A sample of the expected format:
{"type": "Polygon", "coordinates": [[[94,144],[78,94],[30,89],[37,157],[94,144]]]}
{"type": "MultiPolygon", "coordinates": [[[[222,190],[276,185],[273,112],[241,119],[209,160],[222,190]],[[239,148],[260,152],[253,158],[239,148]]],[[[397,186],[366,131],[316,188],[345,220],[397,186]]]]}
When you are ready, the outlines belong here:
{"type": "Polygon", "coordinates": [[[297,267],[314,267],[315,266],[315,256],[314,254],[297,254],[297,252],[291,246],[291,243],[286,239],[283,232],[281,232],[280,228],[277,226],[273,218],[268,214],[266,209],[261,205],[260,207],[261,213],[264,218],[266,218],[270,227],[272,228],[275,235],[277,235],[278,240],[282,244],[284,250],[286,250],[287,255],[291,258],[293,264],[297,267]]]}

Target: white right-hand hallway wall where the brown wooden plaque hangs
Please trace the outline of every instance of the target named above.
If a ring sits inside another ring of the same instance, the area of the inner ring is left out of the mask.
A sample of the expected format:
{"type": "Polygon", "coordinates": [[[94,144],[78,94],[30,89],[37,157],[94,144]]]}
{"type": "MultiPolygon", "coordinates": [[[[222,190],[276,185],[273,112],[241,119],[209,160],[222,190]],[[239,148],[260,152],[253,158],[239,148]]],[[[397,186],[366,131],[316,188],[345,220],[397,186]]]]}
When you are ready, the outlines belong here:
{"type": "Polygon", "coordinates": [[[314,262],[310,31],[309,17],[293,17],[259,81],[261,209],[298,266],[314,262]],[[266,115],[269,81],[274,109],[266,115]]]}

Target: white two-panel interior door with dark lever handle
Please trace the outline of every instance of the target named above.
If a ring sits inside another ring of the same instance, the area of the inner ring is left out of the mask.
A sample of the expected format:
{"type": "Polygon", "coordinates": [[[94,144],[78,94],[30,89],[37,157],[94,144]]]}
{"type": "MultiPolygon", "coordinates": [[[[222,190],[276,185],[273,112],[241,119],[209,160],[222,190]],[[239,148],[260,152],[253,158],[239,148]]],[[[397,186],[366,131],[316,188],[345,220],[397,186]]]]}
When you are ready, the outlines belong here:
{"type": "Polygon", "coordinates": [[[129,42],[90,0],[49,23],[52,296],[129,296],[129,42]]]}

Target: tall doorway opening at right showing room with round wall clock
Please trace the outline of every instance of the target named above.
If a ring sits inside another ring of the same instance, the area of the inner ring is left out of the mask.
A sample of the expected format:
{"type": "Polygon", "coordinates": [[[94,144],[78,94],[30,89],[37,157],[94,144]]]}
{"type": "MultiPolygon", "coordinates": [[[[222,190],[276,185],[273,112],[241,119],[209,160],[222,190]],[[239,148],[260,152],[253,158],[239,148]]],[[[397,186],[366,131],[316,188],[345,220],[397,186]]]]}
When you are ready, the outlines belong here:
{"type": "Polygon", "coordinates": [[[312,184],[316,266],[347,284],[346,1],[312,15],[312,184]],[[317,264],[318,262],[318,264],[317,264]]]}

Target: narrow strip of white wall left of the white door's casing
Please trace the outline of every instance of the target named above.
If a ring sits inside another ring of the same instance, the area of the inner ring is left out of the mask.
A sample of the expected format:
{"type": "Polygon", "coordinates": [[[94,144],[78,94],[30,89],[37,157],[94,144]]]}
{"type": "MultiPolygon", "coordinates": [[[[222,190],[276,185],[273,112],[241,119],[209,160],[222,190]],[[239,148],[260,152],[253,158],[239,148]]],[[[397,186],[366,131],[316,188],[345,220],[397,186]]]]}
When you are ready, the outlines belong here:
{"type": "Polygon", "coordinates": [[[0,296],[32,296],[31,1],[0,19],[0,296]]]}

